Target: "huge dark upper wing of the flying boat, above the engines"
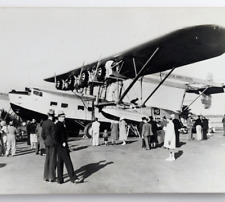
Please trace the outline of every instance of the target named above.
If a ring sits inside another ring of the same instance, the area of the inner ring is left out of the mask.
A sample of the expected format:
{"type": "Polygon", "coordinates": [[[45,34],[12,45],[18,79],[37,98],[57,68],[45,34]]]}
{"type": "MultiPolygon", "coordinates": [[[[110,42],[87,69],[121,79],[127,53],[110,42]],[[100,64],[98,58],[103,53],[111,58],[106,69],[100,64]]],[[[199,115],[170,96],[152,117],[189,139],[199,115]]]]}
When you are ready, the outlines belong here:
{"type": "Polygon", "coordinates": [[[217,57],[224,52],[225,29],[217,25],[199,25],[174,31],[120,54],[44,80],[48,82],[66,81],[71,76],[79,77],[82,73],[93,70],[99,70],[97,74],[100,76],[104,74],[104,77],[106,71],[103,68],[110,61],[112,73],[116,72],[118,78],[129,79],[135,78],[143,66],[145,69],[141,71],[139,76],[217,57]],[[157,52],[152,57],[156,50],[157,52]]]}

